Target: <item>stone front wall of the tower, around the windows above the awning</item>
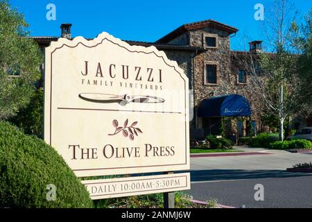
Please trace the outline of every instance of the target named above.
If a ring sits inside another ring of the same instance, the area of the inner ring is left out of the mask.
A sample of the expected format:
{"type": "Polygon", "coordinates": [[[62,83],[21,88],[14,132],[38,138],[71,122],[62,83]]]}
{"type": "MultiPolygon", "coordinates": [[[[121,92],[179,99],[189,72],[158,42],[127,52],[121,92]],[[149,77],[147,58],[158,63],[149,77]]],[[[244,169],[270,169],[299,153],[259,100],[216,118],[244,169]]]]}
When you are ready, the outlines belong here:
{"type": "Polygon", "coordinates": [[[192,46],[203,46],[204,33],[218,34],[217,49],[207,49],[195,58],[195,106],[197,107],[203,99],[209,98],[209,94],[214,92],[214,96],[225,94],[240,94],[245,96],[250,102],[252,108],[252,120],[257,122],[257,128],[261,128],[260,115],[263,107],[262,99],[254,94],[254,89],[250,87],[249,79],[245,84],[238,83],[238,68],[232,67],[232,58],[230,55],[229,34],[224,31],[218,31],[214,28],[202,28],[190,33],[190,42],[192,46]],[[205,85],[205,62],[218,62],[218,83],[216,85],[205,85]]]}

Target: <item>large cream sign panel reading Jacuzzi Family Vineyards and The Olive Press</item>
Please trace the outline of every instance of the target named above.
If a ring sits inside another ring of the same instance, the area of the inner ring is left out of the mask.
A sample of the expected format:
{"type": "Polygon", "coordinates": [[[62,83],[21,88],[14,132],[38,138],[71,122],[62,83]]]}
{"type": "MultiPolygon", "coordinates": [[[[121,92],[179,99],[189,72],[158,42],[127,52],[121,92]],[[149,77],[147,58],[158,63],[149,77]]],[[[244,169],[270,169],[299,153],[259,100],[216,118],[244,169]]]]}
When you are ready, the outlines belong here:
{"type": "Polygon", "coordinates": [[[188,87],[154,46],[61,38],[45,51],[44,140],[77,176],[189,169],[188,87]]]}

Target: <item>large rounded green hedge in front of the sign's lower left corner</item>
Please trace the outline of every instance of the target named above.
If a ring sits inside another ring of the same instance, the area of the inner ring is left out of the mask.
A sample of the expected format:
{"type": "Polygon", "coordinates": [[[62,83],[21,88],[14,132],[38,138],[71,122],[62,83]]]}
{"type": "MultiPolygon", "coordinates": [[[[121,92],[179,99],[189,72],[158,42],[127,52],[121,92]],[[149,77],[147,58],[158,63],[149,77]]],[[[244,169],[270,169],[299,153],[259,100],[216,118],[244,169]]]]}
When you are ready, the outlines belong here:
{"type": "Polygon", "coordinates": [[[1,121],[0,187],[0,207],[93,207],[87,189],[53,147],[1,121]],[[55,200],[46,200],[50,184],[55,200]]]}

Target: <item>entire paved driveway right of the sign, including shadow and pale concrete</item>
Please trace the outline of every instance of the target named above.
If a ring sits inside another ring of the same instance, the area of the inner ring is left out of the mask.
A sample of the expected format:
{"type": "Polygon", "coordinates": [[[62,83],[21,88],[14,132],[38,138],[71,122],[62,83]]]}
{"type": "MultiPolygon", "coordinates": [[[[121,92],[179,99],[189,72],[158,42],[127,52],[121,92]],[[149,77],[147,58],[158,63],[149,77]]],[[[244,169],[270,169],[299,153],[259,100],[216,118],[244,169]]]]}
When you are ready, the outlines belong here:
{"type": "Polygon", "coordinates": [[[312,207],[312,173],[285,171],[297,162],[312,161],[311,155],[265,152],[272,154],[191,158],[189,194],[232,207],[312,207]],[[254,199],[257,184],[263,185],[263,200],[254,199]]]}

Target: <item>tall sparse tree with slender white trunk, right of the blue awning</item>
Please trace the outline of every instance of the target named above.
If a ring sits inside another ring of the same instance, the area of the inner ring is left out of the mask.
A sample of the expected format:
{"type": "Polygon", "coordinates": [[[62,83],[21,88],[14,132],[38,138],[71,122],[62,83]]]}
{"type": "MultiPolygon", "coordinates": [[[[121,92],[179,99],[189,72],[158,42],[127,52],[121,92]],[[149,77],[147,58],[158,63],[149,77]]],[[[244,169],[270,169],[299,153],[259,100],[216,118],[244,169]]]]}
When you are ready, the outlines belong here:
{"type": "Polygon", "coordinates": [[[291,0],[275,0],[267,8],[266,19],[261,25],[270,53],[249,52],[243,62],[239,63],[250,74],[253,94],[262,98],[262,111],[279,120],[279,139],[283,140],[284,122],[297,114],[298,108],[303,104],[298,97],[300,54],[293,46],[297,10],[291,0]]]}

